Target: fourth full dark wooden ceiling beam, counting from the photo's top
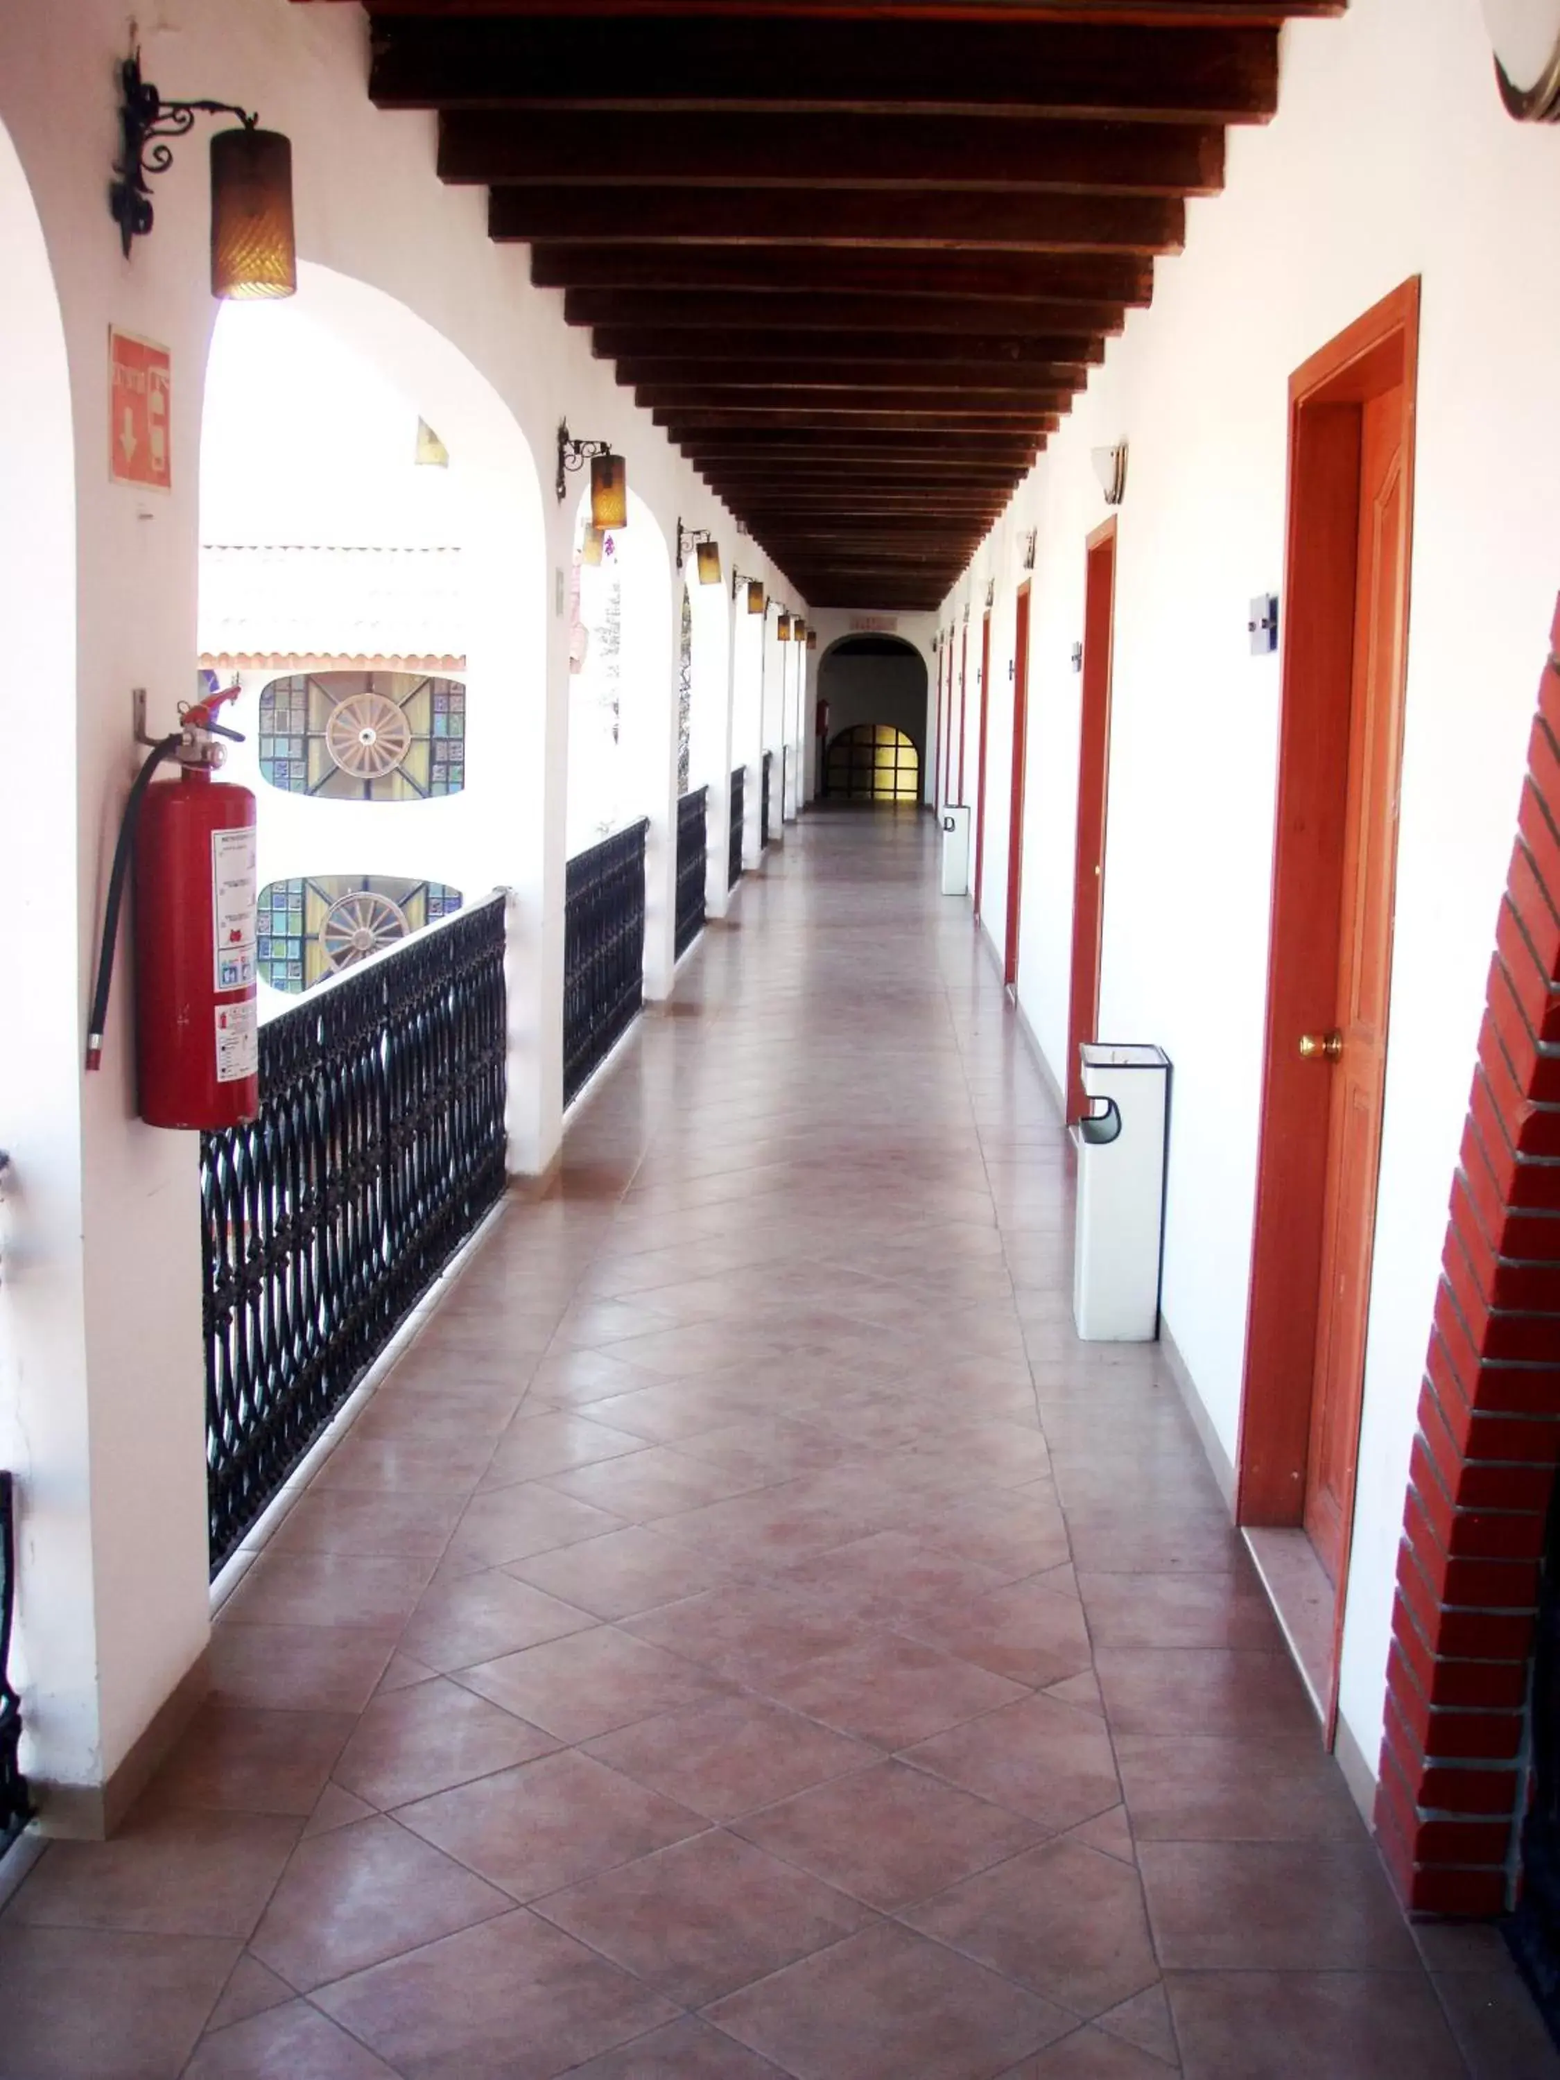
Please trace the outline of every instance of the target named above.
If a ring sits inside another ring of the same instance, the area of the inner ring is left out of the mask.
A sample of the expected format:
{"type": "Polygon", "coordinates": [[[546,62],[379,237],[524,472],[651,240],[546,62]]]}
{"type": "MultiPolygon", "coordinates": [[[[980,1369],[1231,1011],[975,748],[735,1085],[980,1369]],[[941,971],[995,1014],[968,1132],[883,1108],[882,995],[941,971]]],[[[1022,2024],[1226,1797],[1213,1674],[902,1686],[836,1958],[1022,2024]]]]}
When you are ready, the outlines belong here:
{"type": "MultiPolygon", "coordinates": [[[[1136,254],[838,252],[832,245],[570,245],[530,250],[539,289],[1023,297],[1144,306],[1154,264],[1136,254]]],[[[888,322],[882,318],[880,322],[888,322]]]]}

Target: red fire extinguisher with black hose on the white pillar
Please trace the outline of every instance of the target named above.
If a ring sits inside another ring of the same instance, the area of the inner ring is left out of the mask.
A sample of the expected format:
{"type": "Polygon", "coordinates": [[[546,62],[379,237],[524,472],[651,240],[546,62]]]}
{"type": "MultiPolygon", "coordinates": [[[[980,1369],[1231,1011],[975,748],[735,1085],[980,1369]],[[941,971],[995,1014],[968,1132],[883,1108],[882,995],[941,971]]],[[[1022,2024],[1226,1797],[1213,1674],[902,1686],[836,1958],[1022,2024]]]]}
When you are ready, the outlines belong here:
{"type": "Polygon", "coordinates": [[[237,686],[183,711],[152,747],[125,803],[108,882],[87,1069],[102,1061],[119,907],[135,861],[135,1055],[139,1111],[154,1127],[235,1127],[260,1111],[256,1017],[254,795],[214,780],[212,720],[237,686]],[[177,759],[179,776],[152,784],[177,759]]]}

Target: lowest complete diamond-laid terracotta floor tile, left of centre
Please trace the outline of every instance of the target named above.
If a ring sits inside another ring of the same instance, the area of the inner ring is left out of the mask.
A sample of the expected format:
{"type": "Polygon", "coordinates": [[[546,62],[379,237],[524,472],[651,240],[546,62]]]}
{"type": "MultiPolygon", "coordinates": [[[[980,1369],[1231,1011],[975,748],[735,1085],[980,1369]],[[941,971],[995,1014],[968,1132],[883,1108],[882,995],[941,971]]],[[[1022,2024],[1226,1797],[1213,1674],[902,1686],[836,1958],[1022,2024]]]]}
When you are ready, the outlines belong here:
{"type": "Polygon", "coordinates": [[[874,1918],[859,1901],[722,1828],[535,1905],[682,2007],[703,2007],[765,1978],[874,1918]]]}

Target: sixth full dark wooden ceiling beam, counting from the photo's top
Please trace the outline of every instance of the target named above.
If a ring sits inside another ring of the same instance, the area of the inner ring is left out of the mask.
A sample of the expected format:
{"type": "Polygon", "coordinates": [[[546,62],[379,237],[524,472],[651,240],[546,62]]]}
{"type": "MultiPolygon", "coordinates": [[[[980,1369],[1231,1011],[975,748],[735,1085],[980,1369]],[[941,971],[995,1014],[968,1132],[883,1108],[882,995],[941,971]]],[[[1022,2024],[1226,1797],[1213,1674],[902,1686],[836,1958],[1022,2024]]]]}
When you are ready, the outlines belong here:
{"type": "MultiPolygon", "coordinates": [[[[593,333],[593,349],[601,362],[707,362],[718,368],[820,366],[838,364],[847,374],[861,362],[880,364],[944,364],[980,362],[998,370],[1077,368],[1104,360],[1104,341],[1084,333],[1007,333],[982,337],[967,333],[830,333],[815,331],[768,333],[709,327],[686,333],[676,327],[601,327],[593,333]]],[[[657,376],[643,381],[655,383],[657,376]]]]}

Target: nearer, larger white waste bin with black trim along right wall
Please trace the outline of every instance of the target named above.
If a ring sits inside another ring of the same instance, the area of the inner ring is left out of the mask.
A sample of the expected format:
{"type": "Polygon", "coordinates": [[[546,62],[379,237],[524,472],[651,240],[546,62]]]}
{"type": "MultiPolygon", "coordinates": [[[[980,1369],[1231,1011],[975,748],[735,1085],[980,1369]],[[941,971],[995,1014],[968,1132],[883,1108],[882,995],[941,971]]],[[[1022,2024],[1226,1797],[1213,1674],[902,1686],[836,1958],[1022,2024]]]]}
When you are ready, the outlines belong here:
{"type": "Polygon", "coordinates": [[[1073,1321],[1090,1344],[1148,1344],[1159,1335],[1171,1065],[1156,1046],[1104,1040],[1086,1040],[1080,1061],[1073,1321]]]}

